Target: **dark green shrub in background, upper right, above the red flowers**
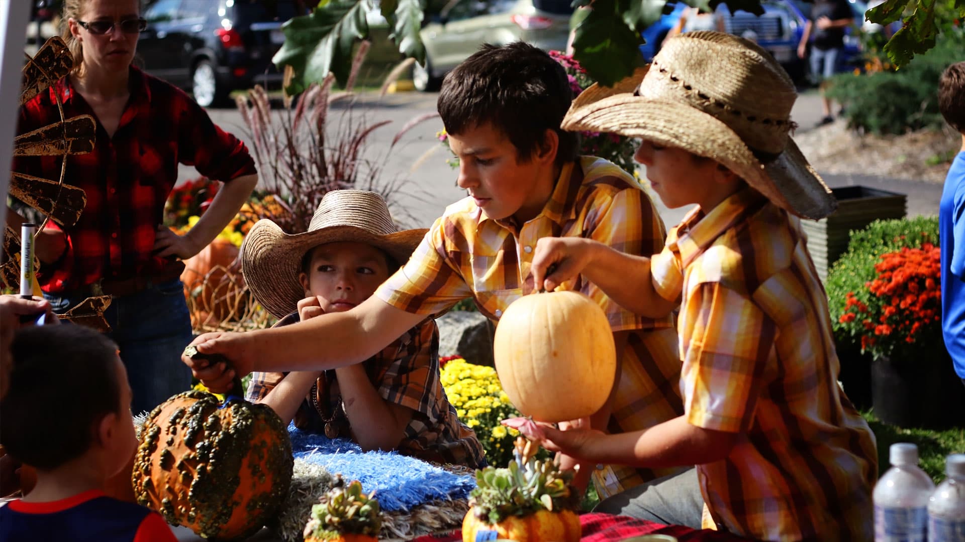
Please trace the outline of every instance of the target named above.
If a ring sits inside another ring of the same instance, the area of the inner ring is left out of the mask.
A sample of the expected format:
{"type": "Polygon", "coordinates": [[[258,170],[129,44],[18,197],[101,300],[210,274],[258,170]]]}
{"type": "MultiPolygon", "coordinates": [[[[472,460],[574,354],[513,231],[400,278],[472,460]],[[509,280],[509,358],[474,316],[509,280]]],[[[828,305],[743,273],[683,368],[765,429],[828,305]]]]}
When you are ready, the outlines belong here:
{"type": "Polygon", "coordinates": [[[943,33],[927,54],[898,70],[842,73],[831,79],[827,95],[841,102],[848,126],[874,134],[902,134],[941,128],[938,78],[961,60],[962,33],[943,33]]]}

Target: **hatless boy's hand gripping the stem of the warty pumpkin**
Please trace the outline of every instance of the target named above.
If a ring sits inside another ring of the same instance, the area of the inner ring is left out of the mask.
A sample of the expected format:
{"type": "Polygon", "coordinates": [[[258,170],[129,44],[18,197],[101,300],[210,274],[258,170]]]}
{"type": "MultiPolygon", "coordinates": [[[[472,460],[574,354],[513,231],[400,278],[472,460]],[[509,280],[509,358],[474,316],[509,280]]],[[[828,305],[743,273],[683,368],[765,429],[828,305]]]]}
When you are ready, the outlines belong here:
{"type": "Polygon", "coordinates": [[[201,380],[213,393],[228,393],[232,389],[234,374],[244,376],[254,370],[249,346],[249,334],[244,333],[206,333],[194,339],[188,346],[196,346],[202,354],[221,354],[228,358],[231,366],[224,362],[211,364],[209,360],[191,359],[181,355],[184,365],[191,367],[195,378],[201,380]]]}

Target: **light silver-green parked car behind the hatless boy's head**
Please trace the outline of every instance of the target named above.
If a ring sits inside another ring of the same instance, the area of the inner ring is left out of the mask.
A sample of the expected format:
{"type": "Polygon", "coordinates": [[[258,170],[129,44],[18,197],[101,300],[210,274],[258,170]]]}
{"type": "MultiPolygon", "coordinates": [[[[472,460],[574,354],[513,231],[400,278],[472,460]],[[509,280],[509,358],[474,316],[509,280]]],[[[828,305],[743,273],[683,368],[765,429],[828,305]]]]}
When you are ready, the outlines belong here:
{"type": "Polygon", "coordinates": [[[483,43],[526,41],[545,50],[566,49],[569,0],[457,0],[420,32],[426,65],[412,68],[417,90],[435,90],[442,77],[483,43]]]}

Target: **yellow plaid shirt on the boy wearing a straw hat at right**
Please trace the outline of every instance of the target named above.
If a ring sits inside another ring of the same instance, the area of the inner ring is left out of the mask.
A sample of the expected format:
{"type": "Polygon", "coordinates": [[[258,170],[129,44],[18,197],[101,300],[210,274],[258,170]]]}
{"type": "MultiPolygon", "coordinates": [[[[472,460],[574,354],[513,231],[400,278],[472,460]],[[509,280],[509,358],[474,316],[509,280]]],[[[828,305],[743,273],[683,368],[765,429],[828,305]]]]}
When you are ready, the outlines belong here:
{"type": "Polygon", "coordinates": [[[682,292],[685,416],[740,433],[699,465],[714,521],[758,540],[871,540],[877,452],[841,392],[824,286],[800,222],[745,188],[695,209],[653,257],[653,283],[682,292]]]}

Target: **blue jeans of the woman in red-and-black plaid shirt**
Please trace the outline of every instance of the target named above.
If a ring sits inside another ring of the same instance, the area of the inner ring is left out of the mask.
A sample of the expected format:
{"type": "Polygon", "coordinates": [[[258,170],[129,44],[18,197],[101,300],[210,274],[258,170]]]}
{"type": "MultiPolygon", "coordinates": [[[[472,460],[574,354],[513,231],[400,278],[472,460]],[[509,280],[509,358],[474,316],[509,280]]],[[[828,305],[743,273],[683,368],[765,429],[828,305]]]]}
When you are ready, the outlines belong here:
{"type": "MultiPolygon", "coordinates": [[[[67,312],[88,297],[87,293],[43,294],[54,312],[67,312]]],[[[181,351],[191,342],[191,318],[178,279],[150,285],[124,297],[115,297],[104,312],[121,348],[127,381],[134,392],[131,411],[150,412],[171,395],[191,387],[191,369],[180,361],[181,351]]]]}

